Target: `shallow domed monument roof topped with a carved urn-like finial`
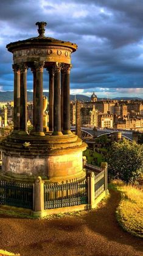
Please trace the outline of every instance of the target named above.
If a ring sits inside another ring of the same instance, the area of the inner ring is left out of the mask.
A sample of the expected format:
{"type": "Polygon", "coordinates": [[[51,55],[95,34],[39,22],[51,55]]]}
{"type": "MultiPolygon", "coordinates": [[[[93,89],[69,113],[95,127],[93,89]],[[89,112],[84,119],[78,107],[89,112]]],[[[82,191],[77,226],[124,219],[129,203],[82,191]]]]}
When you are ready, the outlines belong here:
{"type": "Polygon", "coordinates": [[[60,47],[68,47],[72,49],[73,51],[77,50],[77,45],[75,43],[71,43],[71,42],[66,42],[63,40],[58,40],[58,39],[54,39],[52,37],[46,37],[44,36],[44,26],[46,26],[46,22],[41,21],[41,22],[37,22],[36,25],[38,25],[38,33],[39,36],[37,37],[31,37],[29,39],[26,40],[19,40],[17,42],[13,42],[13,43],[9,43],[6,47],[7,50],[10,52],[13,52],[13,50],[16,50],[17,48],[30,48],[33,46],[38,46],[38,45],[49,45],[49,46],[60,46],[60,47]]]}

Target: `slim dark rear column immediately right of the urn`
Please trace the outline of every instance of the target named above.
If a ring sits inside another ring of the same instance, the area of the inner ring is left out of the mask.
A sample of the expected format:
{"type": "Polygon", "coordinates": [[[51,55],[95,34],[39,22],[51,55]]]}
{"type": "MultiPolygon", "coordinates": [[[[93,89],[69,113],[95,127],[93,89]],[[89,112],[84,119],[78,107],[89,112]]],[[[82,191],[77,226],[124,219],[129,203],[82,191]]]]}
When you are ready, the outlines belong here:
{"type": "Polygon", "coordinates": [[[49,130],[54,129],[54,69],[53,67],[47,68],[49,72],[49,130]]]}

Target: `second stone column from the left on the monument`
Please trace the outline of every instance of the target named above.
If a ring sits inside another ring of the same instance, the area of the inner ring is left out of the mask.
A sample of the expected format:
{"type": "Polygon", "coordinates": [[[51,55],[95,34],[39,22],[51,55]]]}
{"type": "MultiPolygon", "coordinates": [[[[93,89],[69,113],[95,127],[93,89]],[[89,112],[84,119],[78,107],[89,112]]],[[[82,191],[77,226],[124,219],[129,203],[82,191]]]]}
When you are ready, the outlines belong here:
{"type": "Polygon", "coordinates": [[[27,64],[20,66],[20,133],[27,134],[27,64]]]}

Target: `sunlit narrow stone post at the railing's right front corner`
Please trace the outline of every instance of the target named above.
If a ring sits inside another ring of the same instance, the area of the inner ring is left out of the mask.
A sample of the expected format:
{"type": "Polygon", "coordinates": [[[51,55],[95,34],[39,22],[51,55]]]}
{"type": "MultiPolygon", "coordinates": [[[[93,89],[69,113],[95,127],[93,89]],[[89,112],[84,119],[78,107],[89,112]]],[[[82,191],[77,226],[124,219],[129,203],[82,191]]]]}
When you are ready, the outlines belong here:
{"type": "Polygon", "coordinates": [[[95,175],[94,172],[88,172],[88,204],[92,209],[95,203],[95,175]]]}

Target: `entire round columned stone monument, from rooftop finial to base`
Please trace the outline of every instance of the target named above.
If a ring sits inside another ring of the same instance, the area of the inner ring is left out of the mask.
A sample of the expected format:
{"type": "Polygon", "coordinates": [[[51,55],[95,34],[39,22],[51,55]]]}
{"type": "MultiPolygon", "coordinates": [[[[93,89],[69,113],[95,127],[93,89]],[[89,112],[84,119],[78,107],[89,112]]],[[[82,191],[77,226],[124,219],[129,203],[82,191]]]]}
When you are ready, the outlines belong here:
{"type": "Polygon", "coordinates": [[[46,37],[46,23],[36,24],[39,36],[7,45],[7,50],[13,53],[14,128],[1,143],[1,176],[23,181],[41,176],[55,183],[82,180],[85,179],[82,152],[86,144],[70,130],[69,108],[71,53],[77,50],[77,45],[46,37]],[[27,69],[33,73],[31,134],[27,133],[27,69]],[[44,69],[49,72],[49,132],[43,116],[44,69]]]}

